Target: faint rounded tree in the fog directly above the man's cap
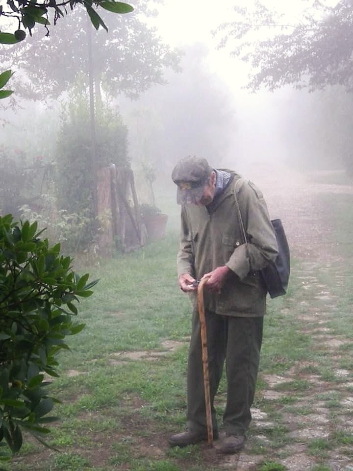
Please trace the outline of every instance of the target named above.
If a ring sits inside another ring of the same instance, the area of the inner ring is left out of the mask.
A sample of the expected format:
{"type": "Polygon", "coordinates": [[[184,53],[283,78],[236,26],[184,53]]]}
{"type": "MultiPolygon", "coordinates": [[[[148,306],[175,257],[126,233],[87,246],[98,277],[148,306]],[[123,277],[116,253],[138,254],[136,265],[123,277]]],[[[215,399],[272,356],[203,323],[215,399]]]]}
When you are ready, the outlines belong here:
{"type": "Polygon", "coordinates": [[[148,157],[159,176],[185,155],[220,162],[237,127],[233,97],[220,76],[209,69],[208,49],[196,43],[185,48],[181,74],[167,73],[168,84],[154,87],[135,103],[122,103],[129,125],[135,162],[148,157]],[[141,109],[143,112],[141,112],[141,109]]]}

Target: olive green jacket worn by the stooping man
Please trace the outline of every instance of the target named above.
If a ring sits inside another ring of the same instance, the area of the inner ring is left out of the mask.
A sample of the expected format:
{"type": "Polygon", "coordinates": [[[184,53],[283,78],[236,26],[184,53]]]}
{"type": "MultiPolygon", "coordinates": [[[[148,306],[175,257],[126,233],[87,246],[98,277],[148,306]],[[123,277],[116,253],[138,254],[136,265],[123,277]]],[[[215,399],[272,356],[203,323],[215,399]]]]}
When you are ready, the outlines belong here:
{"type": "MultiPolygon", "coordinates": [[[[205,308],[229,316],[263,316],[266,313],[266,289],[258,271],[276,258],[276,236],[262,193],[252,182],[225,170],[232,174],[232,179],[207,207],[181,206],[178,277],[190,273],[199,279],[205,273],[227,265],[232,273],[219,295],[207,292],[205,286],[205,308]],[[239,222],[235,194],[247,243],[239,222]]],[[[190,297],[196,308],[196,292],[190,293],[190,297]]]]}

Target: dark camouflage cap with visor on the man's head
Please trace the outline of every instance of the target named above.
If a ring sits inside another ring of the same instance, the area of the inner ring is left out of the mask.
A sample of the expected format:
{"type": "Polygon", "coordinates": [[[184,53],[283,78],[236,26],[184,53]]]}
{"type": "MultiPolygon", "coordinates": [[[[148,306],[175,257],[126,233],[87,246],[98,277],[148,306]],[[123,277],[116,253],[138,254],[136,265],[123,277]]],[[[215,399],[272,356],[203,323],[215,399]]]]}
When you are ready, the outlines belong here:
{"type": "Polygon", "coordinates": [[[172,172],[172,180],[178,187],[177,203],[195,203],[200,200],[204,184],[212,171],[206,159],[195,155],[179,160],[172,172]]]}

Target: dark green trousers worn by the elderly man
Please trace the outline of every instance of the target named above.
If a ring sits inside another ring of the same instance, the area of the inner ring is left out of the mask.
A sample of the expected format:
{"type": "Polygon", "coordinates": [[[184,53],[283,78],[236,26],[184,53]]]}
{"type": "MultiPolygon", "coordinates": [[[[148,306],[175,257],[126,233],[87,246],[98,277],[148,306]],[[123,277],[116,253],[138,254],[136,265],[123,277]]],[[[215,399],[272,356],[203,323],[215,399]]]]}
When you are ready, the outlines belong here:
{"type": "MultiPolygon", "coordinates": [[[[217,429],[213,406],[226,362],[227,404],[223,425],[227,433],[246,434],[255,394],[262,343],[263,317],[220,316],[205,312],[213,430],[217,429]]],[[[194,312],[187,374],[187,428],[206,429],[202,369],[202,344],[198,312],[194,312]]]]}

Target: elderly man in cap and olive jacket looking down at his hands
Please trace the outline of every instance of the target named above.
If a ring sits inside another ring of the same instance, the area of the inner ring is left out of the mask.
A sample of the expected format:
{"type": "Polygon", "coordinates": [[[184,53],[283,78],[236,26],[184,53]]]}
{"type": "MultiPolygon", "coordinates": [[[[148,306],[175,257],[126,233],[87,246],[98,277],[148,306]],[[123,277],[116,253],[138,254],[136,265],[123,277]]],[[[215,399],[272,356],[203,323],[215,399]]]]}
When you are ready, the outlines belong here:
{"type": "Polygon", "coordinates": [[[186,157],[172,173],[181,204],[177,254],[180,289],[193,301],[187,373],[187,428],[169,438],[170,446],[207,440],[197,280],[207,276],[204,306],[213,436],[213,406],[226,361],[225,437],[218,450],[242,449],[251,421],[262,342],[266,288],[259,274],[277,256],[277,242],[262,193],[231,170],[214,169],[205,159],[186,157]],[[247,243],[241,227],[242,216],[247,243]]]}

